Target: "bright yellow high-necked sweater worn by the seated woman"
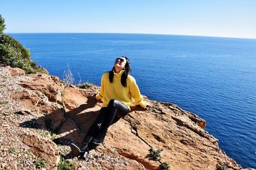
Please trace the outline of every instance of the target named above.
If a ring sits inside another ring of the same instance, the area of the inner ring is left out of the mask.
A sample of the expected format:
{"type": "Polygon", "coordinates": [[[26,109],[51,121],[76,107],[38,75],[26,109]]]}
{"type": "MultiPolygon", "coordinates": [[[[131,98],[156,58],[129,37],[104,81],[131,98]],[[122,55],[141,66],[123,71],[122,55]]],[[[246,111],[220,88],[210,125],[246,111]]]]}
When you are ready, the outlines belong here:
{"type": "Polygon", "coordinates": [[[147,103],[143,101],[138,85],[130,74],[127,76],[126,87],[122,85],[121,76],[123,73],[124,71],[114,72],[113,83],[109,81],[109,72],[104,73],[101,78],[100,93],[97,94],[96,99],[103,101],[102,107],[107,107],[111,99],[116,99],[128,108],[132,103],[140,104],[141,107],[146,108],[147,103]]]}

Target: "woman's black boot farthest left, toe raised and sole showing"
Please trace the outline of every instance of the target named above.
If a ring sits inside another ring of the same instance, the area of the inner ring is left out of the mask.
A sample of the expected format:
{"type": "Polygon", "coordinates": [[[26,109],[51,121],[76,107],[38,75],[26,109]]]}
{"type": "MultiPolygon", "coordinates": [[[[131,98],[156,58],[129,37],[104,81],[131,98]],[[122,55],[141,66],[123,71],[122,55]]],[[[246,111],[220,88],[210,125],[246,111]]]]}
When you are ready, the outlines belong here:
{"type": "Polygon", "coordinates": [[[76,145],[76,143],[71,143],[70,148],[71,152],[78,157],[81,155],[81,153],[88,152],[88,144],[92,141],[93,137],[92,136],[86,136],[84,138],[83,144],[79,147],[76,145]]]}

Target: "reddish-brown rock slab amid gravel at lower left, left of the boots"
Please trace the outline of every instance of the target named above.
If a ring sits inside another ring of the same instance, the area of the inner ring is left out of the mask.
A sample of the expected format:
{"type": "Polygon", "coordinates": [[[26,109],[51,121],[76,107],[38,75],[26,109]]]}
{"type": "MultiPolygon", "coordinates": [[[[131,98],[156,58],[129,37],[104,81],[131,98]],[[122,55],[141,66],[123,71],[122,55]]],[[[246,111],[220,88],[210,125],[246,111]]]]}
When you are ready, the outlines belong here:
{"type": "Polygon", "coordinates": [[[47,169],[57,169],[60,155],[55,143],[33,134],[24,134],[22,136],[22,142],[31,148],[38,159],[47,161],[47,169]]]}

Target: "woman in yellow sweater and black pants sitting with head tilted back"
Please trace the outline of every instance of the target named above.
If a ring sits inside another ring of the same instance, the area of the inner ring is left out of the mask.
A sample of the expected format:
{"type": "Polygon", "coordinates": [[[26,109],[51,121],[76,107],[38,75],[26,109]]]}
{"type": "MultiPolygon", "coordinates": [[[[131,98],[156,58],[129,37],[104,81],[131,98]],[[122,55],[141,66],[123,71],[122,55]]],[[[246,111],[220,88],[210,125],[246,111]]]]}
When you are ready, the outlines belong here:
{"type": "Polygon", "coordinates": [[[87,132],[83,146],[79,148],[74,143],[70,145],[74,155],[79,156],[81,152],[88,150],[88,144],[90,143],[96,146],[100,145],[109,126],[117,122],[120,117],[127,115],[131,110],[131,104],[140,104],[142,108],[150,106],[150,104],[143,101],[138,85],[130,73],[129,59],[119,57],[115,60],[113,69],[102,75],[100,93],[95,96],[97,100],[101,99],[103,101],[102,108],[87,132]],[[118,115],[116,115],[117,112],[118,115]]]}

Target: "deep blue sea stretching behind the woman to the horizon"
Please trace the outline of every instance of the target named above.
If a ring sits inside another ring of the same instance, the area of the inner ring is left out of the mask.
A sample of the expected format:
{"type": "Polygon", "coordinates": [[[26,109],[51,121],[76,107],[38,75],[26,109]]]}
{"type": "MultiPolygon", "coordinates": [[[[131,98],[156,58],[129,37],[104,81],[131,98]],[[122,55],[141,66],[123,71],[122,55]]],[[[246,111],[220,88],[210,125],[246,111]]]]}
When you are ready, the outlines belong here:
{"type": "Polygon", "coordinates": [[[131,61],[141,94],[175,103],[207,122],[225,153],[256,168],[256,39],[163,34],[9,34],[31,59],[63,78],[100,86],[117,57],[131,61]]]}

